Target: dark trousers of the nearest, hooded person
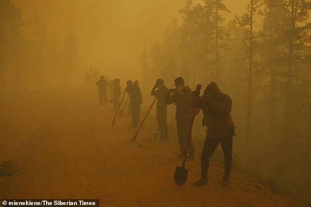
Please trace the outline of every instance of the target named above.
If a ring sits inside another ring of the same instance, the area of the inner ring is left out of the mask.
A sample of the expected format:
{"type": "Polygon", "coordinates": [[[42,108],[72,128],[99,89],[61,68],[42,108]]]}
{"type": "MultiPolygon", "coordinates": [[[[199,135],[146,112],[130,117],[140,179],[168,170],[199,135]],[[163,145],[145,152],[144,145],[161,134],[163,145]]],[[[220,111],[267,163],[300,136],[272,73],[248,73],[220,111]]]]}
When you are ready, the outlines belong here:
{"type": "Polygon", "coordinates": [[[201,175],[202,177],[207,177],[207,170],[209,167],[209,158],[213,155],[214,151],[221,145],[222,151],[225,158],[225,172],[231,171],[232,168],[232,144],[233,144],[233,134],[230,134],[222,139],[212,139],[206,138],[202,156],[201,156],[201,175]]]}

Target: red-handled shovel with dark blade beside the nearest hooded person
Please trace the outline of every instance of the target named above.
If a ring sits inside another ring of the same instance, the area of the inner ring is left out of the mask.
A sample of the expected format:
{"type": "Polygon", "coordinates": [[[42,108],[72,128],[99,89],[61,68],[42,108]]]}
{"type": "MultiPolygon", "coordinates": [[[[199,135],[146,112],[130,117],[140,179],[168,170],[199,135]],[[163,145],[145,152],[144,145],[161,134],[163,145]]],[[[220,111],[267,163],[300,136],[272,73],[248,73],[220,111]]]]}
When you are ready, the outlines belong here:
{"type": "Polygon", "coordinates": [[[188,139],[187,139],[187,142],[186,142],[186,147],[184,149],[184,156],[183,156],[183,160],[182,160],[182,166],[181,167],[176,167],[175,173],[174,173],[174,181],[177,184],[177,186],[183,185],[187,181],[187,177],[188,177],[188,171],[189,170],[186,169],[184,167],[184,165],[186,164],[186,160],[187,160],[188,147],[192,143],[192,140],[191,140],[191,137],[192,137],[192,126],[193,126],[194,117],[196,115],[198,99],[200,98],[200,90],[201,90],[201,88],[202,88],[202,85],[198,84],[197,88],[196,88],[196,93],[195,93],[195,98],[194,98],[194,106],[193,106],[192,116],[191,116],[191,120],[190,120],[191,122],[190,122],[189,135],[188,135],[188,139]]]}

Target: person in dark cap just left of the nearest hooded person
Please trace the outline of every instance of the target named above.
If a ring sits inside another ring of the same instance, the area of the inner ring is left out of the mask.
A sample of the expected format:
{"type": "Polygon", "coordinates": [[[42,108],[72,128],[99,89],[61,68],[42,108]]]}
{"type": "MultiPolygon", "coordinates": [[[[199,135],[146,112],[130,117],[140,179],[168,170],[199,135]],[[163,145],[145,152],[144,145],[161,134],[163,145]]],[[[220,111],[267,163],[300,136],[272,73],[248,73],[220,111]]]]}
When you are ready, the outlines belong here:
{"type": "MultiPolygon", "coordinates": [[[[168,93],[165,95],[165,103],[174,103],[176,105],[175,118],[177,122],[177,134],[181,150],[181,154],[178,155],[178,158],[182,158],[185,155],[185,145],[190,130],[191,110],[189,107],[192,100],[192,91],[188,86],[184,85],[184,80],[181,77],[175,79],[175,86],[176,89],[169,89],[168,93]]],[[[192,143],[189,143],[188,152],[188,160],[196,158],[192,143]]]]}

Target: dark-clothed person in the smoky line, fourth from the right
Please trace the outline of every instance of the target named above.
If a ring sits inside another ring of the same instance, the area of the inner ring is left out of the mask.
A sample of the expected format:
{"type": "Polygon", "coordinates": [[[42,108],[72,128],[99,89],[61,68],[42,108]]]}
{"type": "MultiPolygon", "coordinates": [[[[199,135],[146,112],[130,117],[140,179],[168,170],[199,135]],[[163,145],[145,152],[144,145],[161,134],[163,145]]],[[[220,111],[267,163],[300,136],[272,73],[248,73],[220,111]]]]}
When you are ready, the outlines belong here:
{"type": "Polygon", "coordinates": [[[140,104],[143,103],[142,95],[139,88],[139,83],[137,80],[134,83],[131,80],[127,81],[126,91],[130,95],[130,105],[131,105],[131,117],[132,123],[130,127],[137,128],[140,118],[140,104]]]}

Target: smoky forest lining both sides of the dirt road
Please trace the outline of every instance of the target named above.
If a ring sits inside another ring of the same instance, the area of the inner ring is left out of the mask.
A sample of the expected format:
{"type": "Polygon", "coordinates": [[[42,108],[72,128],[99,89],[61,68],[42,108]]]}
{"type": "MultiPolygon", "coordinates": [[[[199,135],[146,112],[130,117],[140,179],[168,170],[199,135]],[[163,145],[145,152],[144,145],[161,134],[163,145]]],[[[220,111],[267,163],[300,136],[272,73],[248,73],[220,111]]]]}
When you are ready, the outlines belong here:
{"type": "MultiPolygon", "coordinates": [[[[185,0],[162,38],[152,45],[141,43],[141,55],[132,57],[140,63],[136,78],[147,105],[157,78],[173,87],[181,76],[192,89],[216,81],[233,99],[234,167],[276,192],[308,202],[310,11],[310,0],[248,0],[244,14],[228,19],[228,13],[235,13],[224,0],[185,0]]],[[[0,95],[84,84],[92,63],[79,54],[75,33],[67,32],[61,41],[46,38],[46,25],[36,12],[26,25],[22,15],[11,0],[1,0],[0,95]]]]}

